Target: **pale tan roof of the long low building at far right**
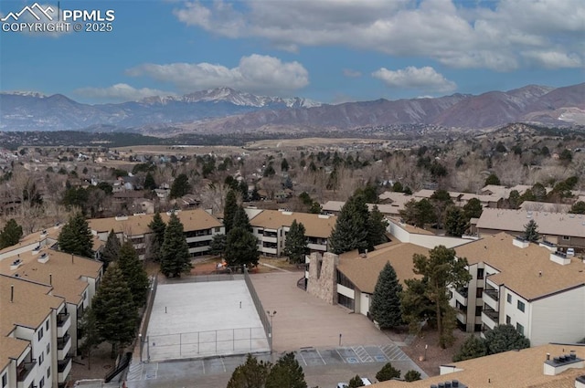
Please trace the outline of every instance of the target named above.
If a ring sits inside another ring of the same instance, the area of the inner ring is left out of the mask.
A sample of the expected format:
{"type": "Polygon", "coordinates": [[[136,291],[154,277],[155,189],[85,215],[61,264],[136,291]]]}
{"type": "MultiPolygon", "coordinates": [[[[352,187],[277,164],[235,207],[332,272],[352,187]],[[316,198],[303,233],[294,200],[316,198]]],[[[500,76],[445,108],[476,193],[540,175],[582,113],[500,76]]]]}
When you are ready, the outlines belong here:
{"type": "Polygon", "coordinates": [[[477,227],[523,233],[528,221],[534,220],[541,235],[585,237],[585,215],[534,212],[527,210],[484,209],[477,227]]]}

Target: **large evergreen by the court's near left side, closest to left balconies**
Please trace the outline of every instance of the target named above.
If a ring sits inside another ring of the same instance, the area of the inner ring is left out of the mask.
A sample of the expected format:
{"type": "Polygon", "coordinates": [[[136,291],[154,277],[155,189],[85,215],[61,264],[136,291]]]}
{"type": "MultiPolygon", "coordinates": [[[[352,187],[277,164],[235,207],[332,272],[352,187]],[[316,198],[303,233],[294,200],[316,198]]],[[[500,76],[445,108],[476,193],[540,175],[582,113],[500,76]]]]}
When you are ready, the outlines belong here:
{"type": "Polygon", "coordinates": [[[100,338],[112,344],[112,358],[116,351],[122,353],[123,347],[134,340],[138,311],[122,270],[115,264],[103,275],[91,308],[100,338]]]}

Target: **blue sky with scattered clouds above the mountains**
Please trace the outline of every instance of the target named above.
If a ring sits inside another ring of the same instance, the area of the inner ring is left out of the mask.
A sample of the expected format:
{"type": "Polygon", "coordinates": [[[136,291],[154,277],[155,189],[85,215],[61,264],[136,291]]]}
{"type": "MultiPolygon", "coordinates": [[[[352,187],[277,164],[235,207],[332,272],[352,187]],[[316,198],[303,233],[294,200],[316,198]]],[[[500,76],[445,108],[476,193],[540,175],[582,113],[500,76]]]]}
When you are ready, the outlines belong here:
{"type": "MultiPolygon", "coordinates": [[[[33,4],[2,0],[0,16],[33,4]]],[[[582,0],[38,4],[113,10],[112,31],[15,32],[4,24],[0,90],[103,103],[228,86],[336,103],[585,81],[582,0]]],[[[25,13],[5,23],[23,21],[35,20],[25,13]]]]}

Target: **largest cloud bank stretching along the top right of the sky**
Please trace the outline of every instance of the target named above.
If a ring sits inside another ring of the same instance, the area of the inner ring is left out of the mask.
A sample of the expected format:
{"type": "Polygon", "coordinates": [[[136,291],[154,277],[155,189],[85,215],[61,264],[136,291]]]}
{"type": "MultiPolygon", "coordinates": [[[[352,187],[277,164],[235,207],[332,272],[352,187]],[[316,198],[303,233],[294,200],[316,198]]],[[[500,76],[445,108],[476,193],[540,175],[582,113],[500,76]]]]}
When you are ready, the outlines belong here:
{"type": "MultiPolygon", "coordinates": [[[[560,54],[580,53],[573,57],[582,61],[582,0],[478,4],[472,8],[452,0],[248,0],[236,8],[224,0],[187,1],[175,15],[187,26],[223,37],[261,37],[293,52],[306,46],[343,45],[433,58],[453,68],[507,71],[545,65],[522,57],[523,51],[562,47],[560,54]]],[[[562,66],[562,61],[558,64],[562,66]]]]}

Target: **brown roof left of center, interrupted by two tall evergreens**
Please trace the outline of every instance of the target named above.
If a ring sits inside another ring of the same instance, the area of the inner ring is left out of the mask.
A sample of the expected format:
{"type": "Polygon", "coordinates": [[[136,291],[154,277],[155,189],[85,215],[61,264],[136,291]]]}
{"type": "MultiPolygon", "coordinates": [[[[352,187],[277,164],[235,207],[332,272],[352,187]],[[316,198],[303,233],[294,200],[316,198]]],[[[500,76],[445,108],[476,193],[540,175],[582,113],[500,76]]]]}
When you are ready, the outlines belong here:
{"type": "MultiPolygon", "coordinates": [[[[183,210],[177,212],[176,215],[181,220],[185,231],[203,230],[223,225],[216,217],[209,215],[202,209],[183,210]]],[[[96,232],[110,232],[113,229],[115,233],[125,233],[127,236],[135,236],[151,233],[148,224],[153,220],[153,216],[128,215],[127,217],[93,218],[88,222],[91,230],[96,232]]],[[[161,213],[161,217],[165,223],[168,223],[170,215],[161,213]]]]}

